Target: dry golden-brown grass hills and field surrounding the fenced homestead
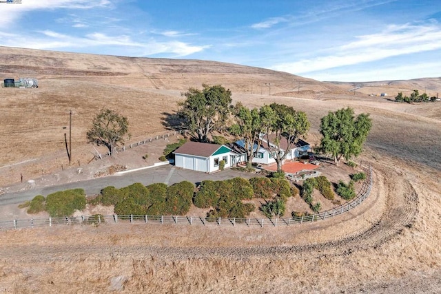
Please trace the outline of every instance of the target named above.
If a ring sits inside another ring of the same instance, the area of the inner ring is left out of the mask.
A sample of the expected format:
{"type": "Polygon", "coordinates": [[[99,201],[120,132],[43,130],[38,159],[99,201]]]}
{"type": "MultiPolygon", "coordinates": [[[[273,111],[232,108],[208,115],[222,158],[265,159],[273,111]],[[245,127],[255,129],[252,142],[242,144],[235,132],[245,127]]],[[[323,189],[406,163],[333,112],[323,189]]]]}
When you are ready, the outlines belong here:
{"type": "Polygon", "coordinates": [[[307,112],[313,144],[327,112],[349,106],[369,113],[373,129],[357,160],[374,176],[362,205],[299,226],[1,232],[0,293],[440,292],[441,103],[391,101],[416,87],[436,95],[439,78],[371,83],[353,95],[349,83],[211,61],[16,48],[0,48],[0,56],[2,78],[39,80],[38,89],[0,88],[0,186],[67,165],[63,127],[70,110],[73,161],[85,166],[94,153],[85,132],[99,109],[127,116],[136,141],[163,134],[181,92],[203,83],[229,88],[249,107],[277,102],[307,112]],[[377,92],[389,96],[368,96],[377,92]]]}

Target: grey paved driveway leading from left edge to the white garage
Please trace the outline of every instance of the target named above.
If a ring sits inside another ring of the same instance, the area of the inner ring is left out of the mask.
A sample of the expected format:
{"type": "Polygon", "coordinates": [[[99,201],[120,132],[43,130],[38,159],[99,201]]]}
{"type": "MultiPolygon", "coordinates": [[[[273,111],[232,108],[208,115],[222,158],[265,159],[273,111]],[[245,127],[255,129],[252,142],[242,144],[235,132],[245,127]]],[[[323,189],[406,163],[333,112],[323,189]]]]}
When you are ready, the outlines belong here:
{"type": "Polygon", "coordinates": [[[37,187],[35,189],[29,189],[16,193],[5,193],[0,195],[0,205],[19,204],[25,202],[26,200],[31,200],[37,195],[48,196],[50,193],[65,189],[82,188],[85,190],[87,195],[94,195],[100,193],[101,189],[107,186],[122,188],[132,185],[134,182],[141,182],[141,184],[145,186],[156,182],[163,182],[167,185],[173,185],[184,180],[188,180],[192,183],[198,183],[202,180],[227,180],[230,178],[236,178],[238,176],[242,178],[252,178],[256,175],[241,171],[233,171],[232,169],[225,169],[224,171],[218,171],[214,174],[205,174],[198,171],[180,169],[178,167],[173,167],[172,165],[165,165],[162,167],[143,169],[141,171],[133,171],[122,175],[107,176],[92,180],[83,180],[80,182],[70,182],[68,184],[50,187],[37,187]]]}

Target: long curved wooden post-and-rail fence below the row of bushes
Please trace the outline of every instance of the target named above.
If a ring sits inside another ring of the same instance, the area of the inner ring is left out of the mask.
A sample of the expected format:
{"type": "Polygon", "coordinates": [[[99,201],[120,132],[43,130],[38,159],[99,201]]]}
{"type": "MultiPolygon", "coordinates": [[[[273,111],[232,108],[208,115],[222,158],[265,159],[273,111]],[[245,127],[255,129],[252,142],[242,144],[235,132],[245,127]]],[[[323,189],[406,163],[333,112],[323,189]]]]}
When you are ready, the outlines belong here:
{"type": "Polygon", "coordinates": [[[345,213],[355,207],[358,207],[371,193],[372,188],[372,169],[364,168],[367,178],[358,191],[356,198],[350,202],[341,204],[338,207],[315,213],[310,216],[299,216],[296,218],[203,218],[194,216],[137,216],[137,215],[112,215],[112,216],[79,216],[65,218],[31,218],[30,220],[9,220],[0,222],[0,230],[22,229],[33,227],[52,227],[55,225],[70,224],[112,224],[112,223],[132,223],[132,224],[186,224],[186,225],[217,225],[217,226],[236,226],[246,225],[248,227],[281,227],[291,224],[302,224],[303,222],[314,222],[325,220],[333,216],[345,213]]]}

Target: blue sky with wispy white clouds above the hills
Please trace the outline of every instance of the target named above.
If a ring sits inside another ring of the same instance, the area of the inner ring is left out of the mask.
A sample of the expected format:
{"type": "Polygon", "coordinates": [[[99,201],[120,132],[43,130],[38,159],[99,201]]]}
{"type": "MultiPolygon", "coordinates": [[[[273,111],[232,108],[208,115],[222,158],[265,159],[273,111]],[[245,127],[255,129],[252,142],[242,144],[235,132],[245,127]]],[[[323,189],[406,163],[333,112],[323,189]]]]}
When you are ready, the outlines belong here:
{"type": "Polygon", "coordinates": [[[223,61],[319,81],[441,76],[440,0],[21,2],[0,3],[0,45],[223,61]]]}

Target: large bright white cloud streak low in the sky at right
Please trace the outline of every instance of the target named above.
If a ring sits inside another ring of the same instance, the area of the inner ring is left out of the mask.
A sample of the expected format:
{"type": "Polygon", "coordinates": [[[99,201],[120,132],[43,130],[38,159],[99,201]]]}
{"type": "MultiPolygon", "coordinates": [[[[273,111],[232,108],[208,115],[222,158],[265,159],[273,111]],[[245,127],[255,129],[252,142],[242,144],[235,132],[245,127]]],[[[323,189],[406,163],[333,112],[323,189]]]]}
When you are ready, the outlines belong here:
{"type": "Polygon", "coordinates": [[[327,52],[331,54],[312,56],[292,63],[279,63],[272,68],[302,74],[439,49],[441,49],[439,23],[389,25],[377,34],[358,36],[356,41],[327,48],[327,52]]]}

